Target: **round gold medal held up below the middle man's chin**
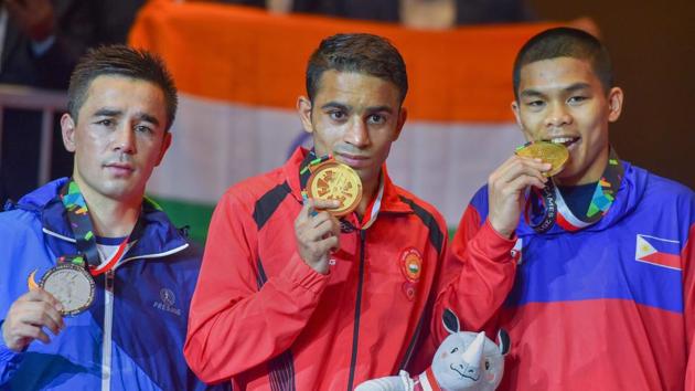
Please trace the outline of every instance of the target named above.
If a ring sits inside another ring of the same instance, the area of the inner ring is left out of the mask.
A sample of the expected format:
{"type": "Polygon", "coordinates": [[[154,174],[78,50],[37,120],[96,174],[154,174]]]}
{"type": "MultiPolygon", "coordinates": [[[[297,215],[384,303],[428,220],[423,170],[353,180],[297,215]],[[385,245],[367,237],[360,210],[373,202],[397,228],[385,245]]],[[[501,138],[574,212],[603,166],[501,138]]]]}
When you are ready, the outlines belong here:
{"type": "Polygon", "coordinates": [[[307,182],[309,198],[340,201],[340,207],[328,210],[336,218],[357,208],[362,200],[362,180],[355,170],[335,160],[324,161],[311,170],[307,182]]]}

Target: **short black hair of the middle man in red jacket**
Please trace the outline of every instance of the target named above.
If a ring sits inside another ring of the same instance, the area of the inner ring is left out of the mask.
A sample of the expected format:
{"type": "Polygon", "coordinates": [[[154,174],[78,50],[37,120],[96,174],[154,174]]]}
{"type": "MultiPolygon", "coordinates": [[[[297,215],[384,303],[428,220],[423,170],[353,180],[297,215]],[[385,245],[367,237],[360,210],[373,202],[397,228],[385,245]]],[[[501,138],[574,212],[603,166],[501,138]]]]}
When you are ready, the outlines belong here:
{"type": "Polygon", "coordinates": [[[400,103],[408,92],[405,62],[383,36],[351,33],[335,34],[321,41],[307,65],[307,95],[313,102],[323,72],[357,72],[393,83],[400,93],[400,103]]]}

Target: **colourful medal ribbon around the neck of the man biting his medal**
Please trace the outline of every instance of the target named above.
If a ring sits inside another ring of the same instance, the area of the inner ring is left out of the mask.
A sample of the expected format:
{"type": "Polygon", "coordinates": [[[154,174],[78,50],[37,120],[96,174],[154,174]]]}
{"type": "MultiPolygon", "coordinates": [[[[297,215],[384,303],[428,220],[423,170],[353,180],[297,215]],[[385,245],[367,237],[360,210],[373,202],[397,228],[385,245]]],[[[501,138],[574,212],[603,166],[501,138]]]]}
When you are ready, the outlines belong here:
{"type": "Polygon", "coordinates": [[[613,148],[610,148],[608,165],[601,179],[596,184],[596,191],[589,203],[589,208],[582,215],[575,215],[559,189],[550,179],[542,191],[532,190],[524,218],[526,223],[538,233],[549,230],[555,222],[565,231],[578,231],[597,223],[608,212],[613,201],[624,173],[622,162],[613,148]],[[538,205],[541,205],[538,208],[538,205]],[[556,209],[555,212],[553,209],[556,209]]]}

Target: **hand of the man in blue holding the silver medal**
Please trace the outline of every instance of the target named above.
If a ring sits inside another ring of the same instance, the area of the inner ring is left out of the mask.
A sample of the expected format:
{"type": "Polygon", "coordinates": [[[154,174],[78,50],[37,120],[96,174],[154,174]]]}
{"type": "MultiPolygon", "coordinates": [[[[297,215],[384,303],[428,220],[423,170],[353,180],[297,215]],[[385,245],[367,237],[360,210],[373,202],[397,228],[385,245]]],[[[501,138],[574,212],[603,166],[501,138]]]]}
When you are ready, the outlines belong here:
{"type": "Polygon", "coordinates": [[[63,305],[41,288],[31,289],[20,296],[10,307],[2,324],[4,345],[19,352],[34,339],[49,344],[51,339],[43,331],[44,327],[54,335],[65,328],[61,309],[63,305]]]}

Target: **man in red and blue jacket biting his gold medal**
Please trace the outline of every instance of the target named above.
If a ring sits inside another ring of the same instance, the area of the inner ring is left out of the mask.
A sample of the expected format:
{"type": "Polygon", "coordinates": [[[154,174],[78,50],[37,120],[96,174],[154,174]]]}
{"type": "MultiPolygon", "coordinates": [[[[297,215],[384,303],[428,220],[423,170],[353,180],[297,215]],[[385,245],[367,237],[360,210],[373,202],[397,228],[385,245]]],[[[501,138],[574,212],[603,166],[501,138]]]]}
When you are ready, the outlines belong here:
{"type": "Polygon", "coordinates": [[[562,144],[569,161],[552,179],[520,156],[492,172],[452,240],[437,308],[464,329],[509,331],[500,390],[694,390],[695,194],[611,148],[623,94],[594,36],[532,38],[514,93],[528,141],[562,144]]]}

